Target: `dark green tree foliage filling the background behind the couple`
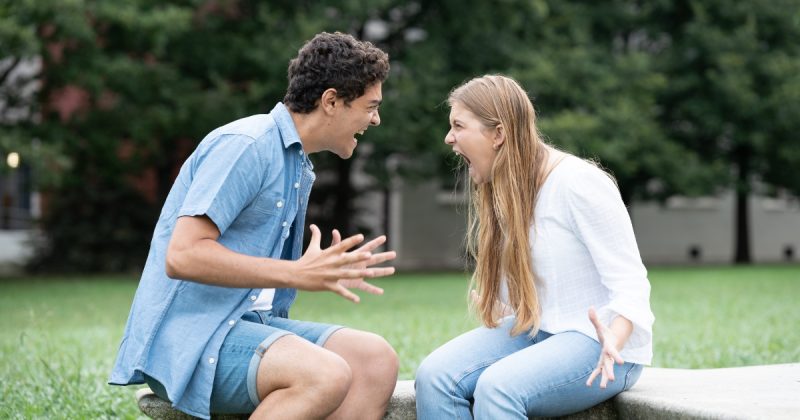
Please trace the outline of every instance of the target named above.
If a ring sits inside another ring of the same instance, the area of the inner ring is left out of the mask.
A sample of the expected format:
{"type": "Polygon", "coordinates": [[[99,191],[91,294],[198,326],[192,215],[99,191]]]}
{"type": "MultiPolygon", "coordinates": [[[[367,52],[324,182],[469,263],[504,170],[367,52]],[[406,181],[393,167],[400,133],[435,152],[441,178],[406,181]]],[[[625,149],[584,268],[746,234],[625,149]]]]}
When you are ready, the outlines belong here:
{"type": "MultiPolygon", "coordinates": [[[[392,71],[382,127],[358,151],[372,182],[354,186],[352,162],[314,158],[322,175],[309,221],[323,227],[352,233],[353,198],[395,177],[451,179],[444,100],[485,73],[520,80],[549,141],[598,159],[626,201],[730,186],[747,193],[753,181],[797,193],[799,5],[5,1],[0,56],[11,59],[0,74],[15,59],[43,64],[28,104],[35,117],[0,119],[0,153],[20,150],[52,192],[42,221],[52,240],[39,267],[135,269],[197,142],[267,112],[303,42],[340,30],[388,51],[392,71]],[[57,106],[69,98],[77,105],[70,112],[57,106]]],[[[3,99],[24,102],[6,82],[3,99]]]]}

